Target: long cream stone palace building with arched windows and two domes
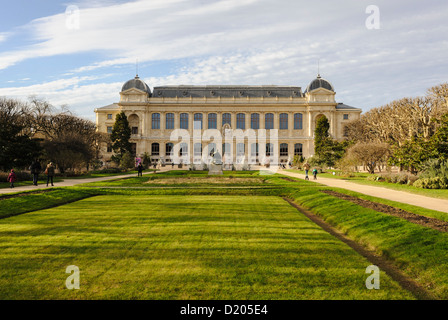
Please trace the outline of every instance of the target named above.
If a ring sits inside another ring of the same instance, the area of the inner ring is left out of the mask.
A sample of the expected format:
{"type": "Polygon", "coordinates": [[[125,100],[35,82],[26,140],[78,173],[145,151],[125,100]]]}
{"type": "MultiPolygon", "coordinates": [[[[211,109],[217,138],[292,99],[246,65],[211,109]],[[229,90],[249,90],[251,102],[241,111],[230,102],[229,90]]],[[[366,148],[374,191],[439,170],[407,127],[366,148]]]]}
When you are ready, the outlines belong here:
{"type": "MultiPolygon", "coordinates": [[[[335,94],[331,83],[320,76],[305,92],[294,86],[164,86],[155,87],[151,92],[136,76],[123,85],[119,103],[95,109],[96,123],[100,132],[111,132],[116,114],[124,111],[132,129],[135,155],[141,157],[147,152],[152,159],[166,163],[171,163],[170,149],[179,143],[171,137],[175,129],[185,129],[189,133],[187,151],[191,162],[201,156],[201,150],[202,154],[209,152],[207,141],[194,145],[194,129],[201,133],[207,129],[222,132],[223,125],[243,131],[266,129],[267,144],[270,143],[270,129],[277,129],[274,150],[278,151],[278,161],[284,163],[294,155],[305,158],[313,155],[314,129],[322,115],[330,122],[331,136],[344,139],[344,126],[358,119],[361,109],[337,103],[335,94]],[[200,119],[202,129],[199,122],[194,123],[200,119]]],[[[256,163],[261,163],[257,148],[266,146],[253,145],[256,142],[250,139],[243,143],[244,146],[240,141],[238,146],[238,141],[233,139],[232,145],[223,148],[229,152],[230,147],[233,161],[237,161],[238,153],[244,153],[246,159],[255,156],[256,163]]],[[[266,151],[269,157],[269,150],[266,151]]],[[[102,147],[106,161],[112,154],[110,146],[102,147]]]]}

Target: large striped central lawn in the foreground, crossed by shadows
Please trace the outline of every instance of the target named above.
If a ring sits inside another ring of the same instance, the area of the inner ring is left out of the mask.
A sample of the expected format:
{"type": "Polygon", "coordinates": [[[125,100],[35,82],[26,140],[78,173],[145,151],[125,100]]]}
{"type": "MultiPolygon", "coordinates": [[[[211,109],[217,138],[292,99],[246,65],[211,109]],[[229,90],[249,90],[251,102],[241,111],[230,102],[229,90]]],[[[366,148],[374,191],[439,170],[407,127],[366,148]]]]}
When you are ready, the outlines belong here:
{"type": "Polygon", "coordinates": [[[0,250],[1,299],[413,298],[272,196],[97,196],[0,220],[0,250]]]}

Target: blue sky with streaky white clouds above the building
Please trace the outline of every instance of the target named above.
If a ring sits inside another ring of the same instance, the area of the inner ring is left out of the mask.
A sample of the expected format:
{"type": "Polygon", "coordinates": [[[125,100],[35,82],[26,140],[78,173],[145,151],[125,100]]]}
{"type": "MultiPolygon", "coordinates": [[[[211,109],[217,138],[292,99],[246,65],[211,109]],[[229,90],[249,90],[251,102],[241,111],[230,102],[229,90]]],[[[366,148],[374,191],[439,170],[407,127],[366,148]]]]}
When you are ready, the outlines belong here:
{"type": "Polygon", "coordinates": [[[96,107],[118,102],[137,60],[151,88],[303,90],[319,60],[337,101],[367,111],[447,82],[447,17],[445,0],[9,1],[0,96],[36,95],[93,120],[96,107]],[[379,29],[366,27],[369,5],[379,29]]]}

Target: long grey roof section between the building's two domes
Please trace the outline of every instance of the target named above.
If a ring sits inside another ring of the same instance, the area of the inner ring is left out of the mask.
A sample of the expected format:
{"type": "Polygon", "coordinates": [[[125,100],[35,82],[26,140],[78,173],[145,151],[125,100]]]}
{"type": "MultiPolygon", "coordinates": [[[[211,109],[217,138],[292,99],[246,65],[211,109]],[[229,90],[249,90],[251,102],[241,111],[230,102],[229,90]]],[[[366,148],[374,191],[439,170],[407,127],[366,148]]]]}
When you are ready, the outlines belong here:
{"type": "Polygon", "coordinates": [[[154,98],[275,98],[303,97],[302,89],[293,86],[162,86],[154,87],[154,98]]]}

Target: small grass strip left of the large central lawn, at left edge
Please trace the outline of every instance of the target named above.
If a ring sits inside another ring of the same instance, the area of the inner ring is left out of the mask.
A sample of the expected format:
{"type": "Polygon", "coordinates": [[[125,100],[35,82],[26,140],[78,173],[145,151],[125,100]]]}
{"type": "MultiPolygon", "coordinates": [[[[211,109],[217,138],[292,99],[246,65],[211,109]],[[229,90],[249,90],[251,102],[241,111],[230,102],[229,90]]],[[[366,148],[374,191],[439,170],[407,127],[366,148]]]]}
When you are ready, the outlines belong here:
{"type": "Polygon", "coordinates": [[[45,192],[39,193],[24,192],[20,196],[15,194],[12,198],[0,200],[0,219],[64,205],[92,195],[92,192],[70,188],[45,189],[45,192]]]}

